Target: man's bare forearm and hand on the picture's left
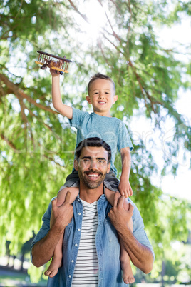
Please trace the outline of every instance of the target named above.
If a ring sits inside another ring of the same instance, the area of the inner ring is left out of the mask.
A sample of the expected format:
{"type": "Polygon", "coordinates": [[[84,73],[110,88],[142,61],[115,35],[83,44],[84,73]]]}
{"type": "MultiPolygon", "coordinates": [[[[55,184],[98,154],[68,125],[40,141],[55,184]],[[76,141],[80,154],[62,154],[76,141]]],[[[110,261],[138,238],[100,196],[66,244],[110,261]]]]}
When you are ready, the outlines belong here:
{"type": "Polygon", "coordinates": [[[53,224],[44,238],[38,241],[31,250],[33,265],[40,267],[47,263],[53,256],[53,251],[63,235],[63,232],[71,222],[73,217],[73,206],[69,203],[71,193],[66,194],[65,202],[62,206],[56,206],[56,201],[52,201],[53,224]]]}

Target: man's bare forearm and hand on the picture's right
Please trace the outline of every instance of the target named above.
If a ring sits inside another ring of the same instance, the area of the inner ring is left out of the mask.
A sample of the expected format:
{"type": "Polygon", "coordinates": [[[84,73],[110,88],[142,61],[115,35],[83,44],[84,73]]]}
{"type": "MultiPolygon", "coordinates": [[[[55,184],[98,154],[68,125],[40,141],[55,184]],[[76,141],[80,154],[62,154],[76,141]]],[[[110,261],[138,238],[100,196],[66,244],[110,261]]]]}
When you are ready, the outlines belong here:
{"type": "Polygon", "coordinates": [[[120,238],[123,240],[125,249],[133,264],[144,273],[150,273],[153,269],[153,253],[148,246],[141,244],[130,231],[128,222],[133,216],[134,208],[131,203],[129,203],[129,210],[125,211],[123,208],[124,201],[124,196],[121,196],[118,200],[118,195],[115,194],[114,206],[110,209],[108,216],[111,223],[118,231],[120,238]]]}

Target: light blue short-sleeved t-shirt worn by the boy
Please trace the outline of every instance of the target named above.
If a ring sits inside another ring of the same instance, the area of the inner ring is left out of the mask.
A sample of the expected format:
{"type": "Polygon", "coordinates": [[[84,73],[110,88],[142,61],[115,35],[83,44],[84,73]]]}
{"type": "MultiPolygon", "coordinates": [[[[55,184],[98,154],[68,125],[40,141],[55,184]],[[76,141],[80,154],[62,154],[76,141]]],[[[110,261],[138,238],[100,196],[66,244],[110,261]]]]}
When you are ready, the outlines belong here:
{"type": "Polygon", "coordinates": [[[117,175],[117,169],[114,166],[115,155],[121,148],[130,148],[133,150],[133,144],[130,141],[128,130],[120,119],[100,116],[95,113],[89,114],[87,111],[81,111],[73,108],[72,119],[69,120],[71,126],[77,129],[76,146],[83,139],[98,136],[103,139],[111,148],[110,169],[117,175]]]}

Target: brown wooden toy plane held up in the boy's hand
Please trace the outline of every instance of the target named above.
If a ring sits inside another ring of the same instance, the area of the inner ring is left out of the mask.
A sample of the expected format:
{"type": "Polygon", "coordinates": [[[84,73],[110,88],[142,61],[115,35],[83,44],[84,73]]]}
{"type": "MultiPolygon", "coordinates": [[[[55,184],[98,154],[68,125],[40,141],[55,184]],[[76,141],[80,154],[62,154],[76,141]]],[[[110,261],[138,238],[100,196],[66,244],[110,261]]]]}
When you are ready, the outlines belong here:
{"type": "Polygon", "coordinates": [[[68,66],[71,63],[71,60],[66,59],[66,56],[61,58],[43,51],[37,51],[37,53],[39,53],[39,56],[38,61],[35,61],[35,63],[42,65],[41,69],[45,70],[49,67],[56,70],[56,73],[61,75],[63,75],[63,73],[68,73],[68,66]]]}

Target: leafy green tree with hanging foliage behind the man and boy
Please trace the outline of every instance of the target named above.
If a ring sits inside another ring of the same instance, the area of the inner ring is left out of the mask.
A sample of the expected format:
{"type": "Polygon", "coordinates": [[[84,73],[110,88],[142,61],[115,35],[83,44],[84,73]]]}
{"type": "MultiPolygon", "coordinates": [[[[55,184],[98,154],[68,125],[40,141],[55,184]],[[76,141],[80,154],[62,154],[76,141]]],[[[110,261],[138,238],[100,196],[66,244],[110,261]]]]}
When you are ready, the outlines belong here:
{"type": "MultiPolygon", "coordinates": [[[[76,132],[51,105],[51,76],[34,63],[36,51],[73,59],[61,84],[66,104],[90,111],[86,84],[100,71],[115,81],[120,96],[113,115],[126,124],[144,114],[162,138],[167,119],[172,119],[174,134],[165,142],[170,156],[163,155],[162,174],[175,173],[178,151],[190,151],[190,126],[174,108],[178,89],[190,89],[190,66],[175,59],[176,49],[160,46],[155,28],[180,21],[182,14],[190,16],[190,4],[179,0],[0,3],[1,246],[10,240],[16,253],[41,226],[48,201],[71,172],[76,146],[76,132]],[[92,5],[104,20],[99,31],[93,29],[95,11],[89,16],[92,5]]],[[[151,183],[158,164],[143,139],[130,133],[135,146],[130,175],[133,201],[161,261],[171,241],[187,240],[187,202],[164,196],[151,183]]],[[[120,173],[119,158],[115,163],[120,173]]]]}

